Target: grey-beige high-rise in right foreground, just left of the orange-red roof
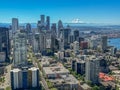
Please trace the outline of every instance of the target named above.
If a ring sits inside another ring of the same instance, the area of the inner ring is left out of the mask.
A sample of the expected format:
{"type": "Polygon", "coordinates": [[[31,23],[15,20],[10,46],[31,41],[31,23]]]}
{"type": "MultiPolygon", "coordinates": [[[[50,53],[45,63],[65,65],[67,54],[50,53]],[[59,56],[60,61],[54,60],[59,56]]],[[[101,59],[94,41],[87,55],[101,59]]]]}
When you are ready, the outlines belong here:
{"type": "Polygon", "coordinates": [[[92,81],[92,83],[99,83],[100,59],[90,57],[85,64],[85,80],[92,81]]]}

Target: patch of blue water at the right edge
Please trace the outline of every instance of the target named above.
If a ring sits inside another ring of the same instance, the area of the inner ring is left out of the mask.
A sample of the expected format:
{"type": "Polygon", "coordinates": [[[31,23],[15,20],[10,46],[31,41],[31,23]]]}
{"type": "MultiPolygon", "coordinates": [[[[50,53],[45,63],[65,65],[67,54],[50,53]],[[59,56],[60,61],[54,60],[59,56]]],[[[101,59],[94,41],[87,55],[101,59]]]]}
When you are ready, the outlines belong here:
{"type": "Polygon", "coordinates": [[[114,47],[116,47],[117,49],[120,50],[120,38],[108,39],[108,45],[109,46],[114,46],[114,47]]]}

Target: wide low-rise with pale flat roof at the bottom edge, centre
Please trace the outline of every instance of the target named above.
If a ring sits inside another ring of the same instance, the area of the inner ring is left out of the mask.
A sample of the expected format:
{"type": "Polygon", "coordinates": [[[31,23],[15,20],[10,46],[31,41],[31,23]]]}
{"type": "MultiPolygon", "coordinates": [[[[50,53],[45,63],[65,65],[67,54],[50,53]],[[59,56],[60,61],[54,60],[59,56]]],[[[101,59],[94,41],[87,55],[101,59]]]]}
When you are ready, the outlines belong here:
{"type": "Polygon", "coordinates": [[[79,82],[73,75],[63,75],[59,79],[50,79],[58,90],[78,90],[79,82]]]}

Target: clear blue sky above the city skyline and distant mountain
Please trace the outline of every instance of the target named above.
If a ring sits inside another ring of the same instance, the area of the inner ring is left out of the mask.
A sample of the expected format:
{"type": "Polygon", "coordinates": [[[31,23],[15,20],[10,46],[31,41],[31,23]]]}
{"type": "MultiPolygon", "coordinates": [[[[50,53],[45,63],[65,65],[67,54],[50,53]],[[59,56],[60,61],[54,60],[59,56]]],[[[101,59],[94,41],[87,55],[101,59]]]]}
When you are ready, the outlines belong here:
{"type": "Polygon", "coordinates": [[[72,22],[120,24],[120,0],[0,0],[0,22],[37,22],[41,14],[51,22],[61,19],[72,22]]]}

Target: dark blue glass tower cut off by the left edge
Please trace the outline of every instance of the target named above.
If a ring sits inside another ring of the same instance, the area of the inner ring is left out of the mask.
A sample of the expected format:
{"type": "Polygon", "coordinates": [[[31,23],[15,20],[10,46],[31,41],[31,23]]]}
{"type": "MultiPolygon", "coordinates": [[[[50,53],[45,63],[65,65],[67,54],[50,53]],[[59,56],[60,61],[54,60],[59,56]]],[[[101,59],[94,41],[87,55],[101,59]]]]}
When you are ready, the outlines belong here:
{"type": "MultiPolygon", "coordinates": [[[[8,28],[0,27],[0,52],[4,54],[5,60],[9,61],[10,42],[8,28]]],[[[0,59],[2,59],[2,57],[0,57],[0,59]]]]}

